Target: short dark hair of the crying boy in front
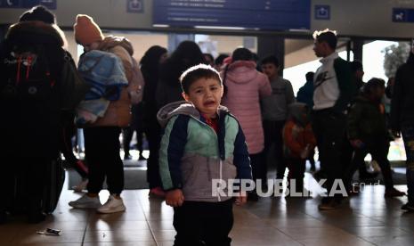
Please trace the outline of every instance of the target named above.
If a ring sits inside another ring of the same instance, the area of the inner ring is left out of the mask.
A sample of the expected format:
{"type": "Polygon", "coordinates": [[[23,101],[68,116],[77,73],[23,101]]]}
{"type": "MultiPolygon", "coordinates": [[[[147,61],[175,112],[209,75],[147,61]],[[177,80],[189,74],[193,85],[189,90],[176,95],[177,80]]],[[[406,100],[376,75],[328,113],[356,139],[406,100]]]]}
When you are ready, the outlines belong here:
{"type": "Polygon", "coordinates": [[[223,86],[222,78],[217,70],[212,68],[210,65],[199,64],[185,70],[180,77],[181,87],[185,94],[189,94],[189,89],[192,83],[199,80],[200,78],[213,78],[217,80],[220,86],[223,86]]]}

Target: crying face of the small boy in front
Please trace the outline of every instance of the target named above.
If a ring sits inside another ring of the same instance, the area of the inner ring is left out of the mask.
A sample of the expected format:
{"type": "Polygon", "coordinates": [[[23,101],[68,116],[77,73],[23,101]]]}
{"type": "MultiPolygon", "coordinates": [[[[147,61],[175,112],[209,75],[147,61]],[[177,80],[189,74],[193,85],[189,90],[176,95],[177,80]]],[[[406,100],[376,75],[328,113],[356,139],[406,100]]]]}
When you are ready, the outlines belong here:
{"type": "Polygon", "coordinates": [[[215,117],[222,96],[223,86],[214,78],[199,78],[191,84],[188,94],[183,93],[185,101],[191,102],[208,118],[215,117]]]}

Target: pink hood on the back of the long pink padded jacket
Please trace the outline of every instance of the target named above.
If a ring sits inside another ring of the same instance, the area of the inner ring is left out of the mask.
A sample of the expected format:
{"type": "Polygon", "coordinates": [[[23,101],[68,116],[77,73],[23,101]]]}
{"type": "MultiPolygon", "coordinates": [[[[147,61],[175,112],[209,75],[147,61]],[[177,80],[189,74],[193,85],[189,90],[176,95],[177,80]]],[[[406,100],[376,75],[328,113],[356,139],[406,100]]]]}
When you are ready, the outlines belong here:
{"type": "Polygon", "coordinates": [[[245,84],[258,75],[255,61],[234,61],[229,65],[227,78],[239,84],[245,84]]]}

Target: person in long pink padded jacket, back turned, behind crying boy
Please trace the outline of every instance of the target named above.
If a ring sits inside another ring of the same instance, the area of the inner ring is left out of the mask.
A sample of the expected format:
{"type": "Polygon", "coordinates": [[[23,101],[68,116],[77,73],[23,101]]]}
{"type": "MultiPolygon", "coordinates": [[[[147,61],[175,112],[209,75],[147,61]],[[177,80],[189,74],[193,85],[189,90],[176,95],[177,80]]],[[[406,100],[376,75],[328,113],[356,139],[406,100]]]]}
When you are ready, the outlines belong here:
{"type": "MultiPolygon", "coordinates": [[[[239,119],[246,135],[253,179],[256,181],[264,165],[264,131],[259,99],[272,94],[272,87],[267,76],[256,70],[253,53],[246,48],[238,48],[232,53],[231,63],[221,76],[224,85],[223,105],[239,119]]],[[[250,193],[249,197],[257,201],[256,193],[250,193]]]]}

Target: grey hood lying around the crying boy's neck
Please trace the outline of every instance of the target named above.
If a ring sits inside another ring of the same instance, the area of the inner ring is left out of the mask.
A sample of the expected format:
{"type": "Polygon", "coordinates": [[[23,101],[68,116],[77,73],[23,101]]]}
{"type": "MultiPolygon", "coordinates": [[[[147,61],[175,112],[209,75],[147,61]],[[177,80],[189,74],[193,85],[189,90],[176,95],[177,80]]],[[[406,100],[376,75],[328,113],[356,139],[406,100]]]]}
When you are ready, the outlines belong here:
{"type": "MultiPolygon", "coordinates": [[[[218,111],[225,111],[228,112],[229,110],[220,105],[218,107],[218,111]]],[[[161,127],[166,127],[168,120],[174,117],[175,115],[188,115],[193,116],[196,119],[201,117],[199,111],[192,105],[191,102],[186,101],[179,101],[179,102],[171,102],[166,104],[166,106],[162,107],[157,113],[157,119],[159,125],[161,127]]],[[[220,115],[220,114],[219,114],[220,115]]]]}

